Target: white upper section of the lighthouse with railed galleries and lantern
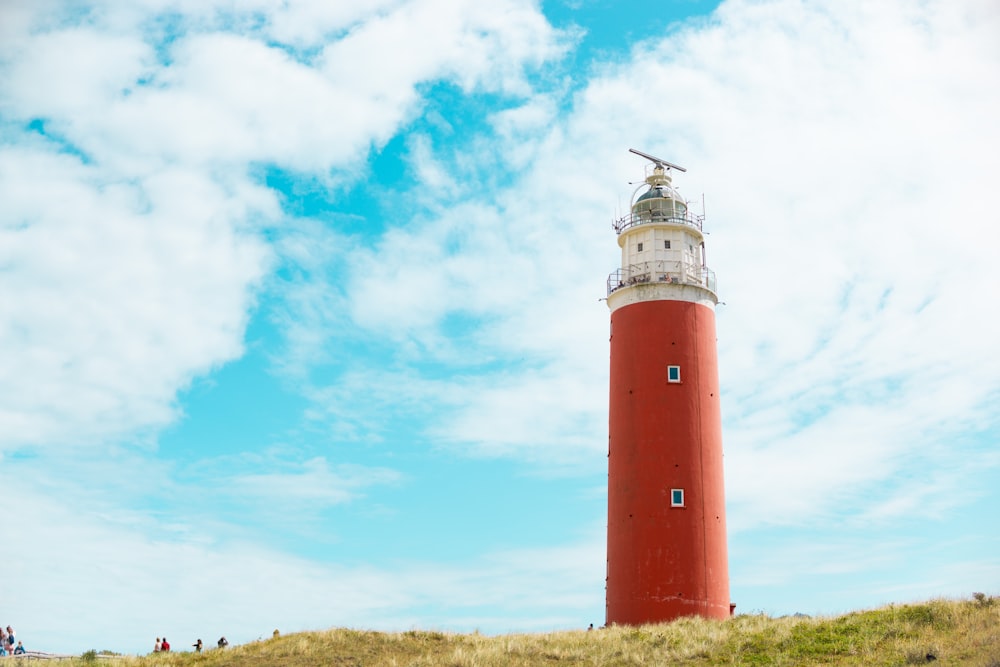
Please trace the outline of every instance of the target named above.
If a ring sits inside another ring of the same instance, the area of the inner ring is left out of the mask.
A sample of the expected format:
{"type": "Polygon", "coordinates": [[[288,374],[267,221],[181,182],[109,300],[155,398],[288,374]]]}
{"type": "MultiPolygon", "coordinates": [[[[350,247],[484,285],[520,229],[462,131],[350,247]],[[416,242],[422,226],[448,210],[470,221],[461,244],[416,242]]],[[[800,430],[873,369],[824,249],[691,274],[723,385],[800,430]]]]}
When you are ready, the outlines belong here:
{"type": "Polygon", "coordinates": [[[703,216],[692,214],[671,186],[669,170],[682,167],[651,155],[633,153],[654,162],[645,192],[633,195],[628,215],[615,220],[621,268],[608,277],[608,307],[612,311],[640,301],[671,300],[718,303],[715,272],[706,266],[703,216]]]}

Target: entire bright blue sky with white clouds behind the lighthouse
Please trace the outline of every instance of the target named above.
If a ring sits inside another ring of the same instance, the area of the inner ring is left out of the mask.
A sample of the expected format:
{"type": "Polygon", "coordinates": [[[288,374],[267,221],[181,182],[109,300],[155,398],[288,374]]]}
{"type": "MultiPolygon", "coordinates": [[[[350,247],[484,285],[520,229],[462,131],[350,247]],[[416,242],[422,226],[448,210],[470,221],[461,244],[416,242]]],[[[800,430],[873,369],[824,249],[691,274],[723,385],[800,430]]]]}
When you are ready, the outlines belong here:
{"type": "Polygon", "coordinates": [[[0,2],[0,622],[604,616],[610,222],[687,167],[733,601],[1000,593],[1000,10],[0,2]]]}

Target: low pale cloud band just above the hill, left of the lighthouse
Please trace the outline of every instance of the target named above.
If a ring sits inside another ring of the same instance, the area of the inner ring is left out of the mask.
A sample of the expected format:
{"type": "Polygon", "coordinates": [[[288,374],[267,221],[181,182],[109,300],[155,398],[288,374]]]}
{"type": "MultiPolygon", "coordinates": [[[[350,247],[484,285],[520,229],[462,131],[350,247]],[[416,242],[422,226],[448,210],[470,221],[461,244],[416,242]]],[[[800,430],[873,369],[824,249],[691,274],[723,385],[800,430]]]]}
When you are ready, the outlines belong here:
{"type": "MultiPolygon", "coordinates": [[[[0,502],[21,508],[18,539],[0,543],[0,557],[18,582],[4,600],[36,650],[146,653],[164,634],[183,648],[221,635],[243,643],[275,627],[496,632],[539,629],[530,620],[539,616],[550,621],[544,629],[582,627],[591,619],[562,610],[601,608],[599,589],[585,585],[602,571],[601,543],[589,536],[462,566],[399,563],[390,571],[298,559],[248,541],[219,543],[193,523],[144,537],[82,513],[86,506],[62,506],[21,480],[0,487],[0,502]],[[580,593],[587,589],[593,592],[580,593]],[[59,604],[52,604],[53,591],[59,604]],[[91,620],[80,623],[82,617],[91,620]],[[113,647],[95,645],[109,641],[113,647]]],[[[147,528],[152,520],[145,517],[147,528]]]]}

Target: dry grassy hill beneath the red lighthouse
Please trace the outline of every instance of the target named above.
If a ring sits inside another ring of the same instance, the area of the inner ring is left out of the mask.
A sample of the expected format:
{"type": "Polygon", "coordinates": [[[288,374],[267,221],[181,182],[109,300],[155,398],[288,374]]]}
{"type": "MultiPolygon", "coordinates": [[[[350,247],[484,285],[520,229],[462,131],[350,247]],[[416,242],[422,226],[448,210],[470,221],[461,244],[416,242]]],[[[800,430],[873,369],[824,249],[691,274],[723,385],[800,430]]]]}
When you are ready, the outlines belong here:
{"type": "MultiPolygon", "coordinates": [[[[1000,667],[1000,598],[890,605],[832,618],[740,615],[662,625],[487,637],[334,629],[205,653],[106,659],[115,667],[570,667],[576,665],[981,665],[1000,667]]],[[[66,664],[66,663],[63,663],[66,664]]]]}

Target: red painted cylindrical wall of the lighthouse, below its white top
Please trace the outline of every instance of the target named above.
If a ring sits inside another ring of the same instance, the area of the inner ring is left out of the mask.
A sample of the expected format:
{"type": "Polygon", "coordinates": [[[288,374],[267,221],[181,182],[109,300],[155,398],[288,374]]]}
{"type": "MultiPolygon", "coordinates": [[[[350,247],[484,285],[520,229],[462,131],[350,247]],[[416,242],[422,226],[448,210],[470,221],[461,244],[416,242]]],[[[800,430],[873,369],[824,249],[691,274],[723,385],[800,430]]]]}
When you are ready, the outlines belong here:
{"type": "Polygon", "coordinates": [[[667,300],[615,310],[610,389],[607,623],[728,618],[715,312],[667,300]],[[670,506],[675,488],[683,508],[670,506]]]}

